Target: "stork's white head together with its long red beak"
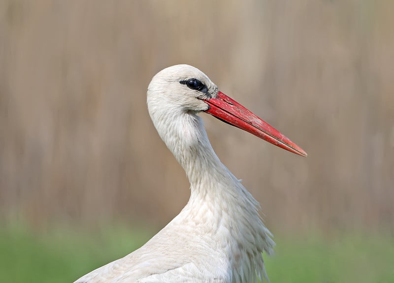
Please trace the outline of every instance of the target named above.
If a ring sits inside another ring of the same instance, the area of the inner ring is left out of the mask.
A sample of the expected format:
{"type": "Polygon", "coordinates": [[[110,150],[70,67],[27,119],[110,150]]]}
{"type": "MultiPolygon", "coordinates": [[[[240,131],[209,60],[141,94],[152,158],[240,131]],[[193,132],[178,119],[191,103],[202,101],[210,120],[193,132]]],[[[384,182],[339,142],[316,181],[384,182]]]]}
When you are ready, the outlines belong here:
{"type": "Polygon", "coordinates": [[[157,73],[148,86],[147,104],[155,126],[165,115],[176,118],[181,113],[205,112],[283,149],[307,156],[298,145],[219,91],[203,72],[189,65],[175,65],[157,73]]]}

